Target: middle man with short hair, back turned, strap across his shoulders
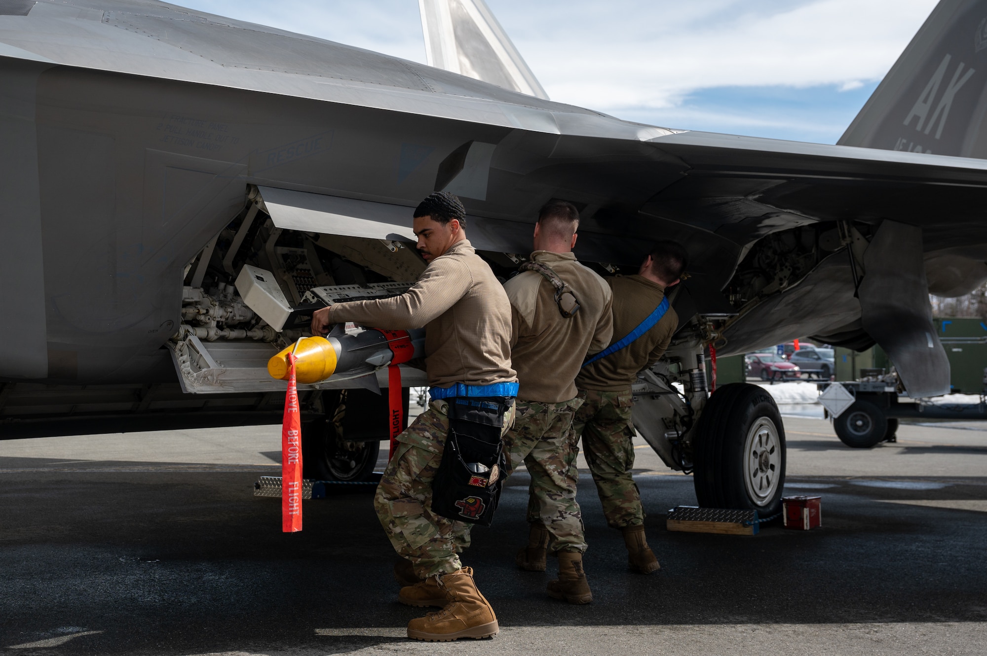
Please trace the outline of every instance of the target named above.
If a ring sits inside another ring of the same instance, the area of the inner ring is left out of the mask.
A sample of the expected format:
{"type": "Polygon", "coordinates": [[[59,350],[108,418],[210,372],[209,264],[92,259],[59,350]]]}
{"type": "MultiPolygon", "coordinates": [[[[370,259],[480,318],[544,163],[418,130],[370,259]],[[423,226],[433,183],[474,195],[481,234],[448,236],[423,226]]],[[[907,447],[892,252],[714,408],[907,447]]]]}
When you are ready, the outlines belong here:
{"type": "Polygon", "coordinates": [[[586,540],[575,481],[569,478],[578,453],[572,420],[582,403],[574,380],[587,352],[610,343],[613,318],[610,288],[571,252],[578,223],[579,213],[570,203],[543,207],[531,261],[547,269],[522,267],[504,285],[511,305],[511,361],[520,384],[517,417],[504,445],[511,471],[521,462],[527,467],[532,503],[538,508],[531,534],[540,549],[522,549],[516,563],[545,571],[551,550],[559,557],[559,576],[549,581],[548,594],[585,604],[592,600],[582,571],[586,540]],[[578,303],[574,312],[573,302],[578,303]]]}

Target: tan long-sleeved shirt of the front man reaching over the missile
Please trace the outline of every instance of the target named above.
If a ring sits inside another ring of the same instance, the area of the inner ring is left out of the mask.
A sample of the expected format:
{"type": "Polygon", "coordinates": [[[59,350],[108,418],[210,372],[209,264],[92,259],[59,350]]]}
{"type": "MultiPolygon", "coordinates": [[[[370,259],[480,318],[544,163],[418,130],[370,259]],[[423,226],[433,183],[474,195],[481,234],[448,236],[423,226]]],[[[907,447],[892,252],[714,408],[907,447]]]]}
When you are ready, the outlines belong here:
{"type": "Polygon", "coordinates": [[[517,380],[510,366],[510,302],[466,239],[439,255],[403,295],[329,308],[329,321],[388,330],[425,329],[428,384],[517,380]]]}

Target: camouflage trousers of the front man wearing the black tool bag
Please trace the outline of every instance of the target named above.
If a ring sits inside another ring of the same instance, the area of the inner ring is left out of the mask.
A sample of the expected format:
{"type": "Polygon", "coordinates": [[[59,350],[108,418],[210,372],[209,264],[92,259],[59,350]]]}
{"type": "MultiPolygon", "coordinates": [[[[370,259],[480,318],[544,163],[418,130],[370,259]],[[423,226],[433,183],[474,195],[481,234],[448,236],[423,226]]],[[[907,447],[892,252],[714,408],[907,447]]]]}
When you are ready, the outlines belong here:
{"type": "MultiPolygon", "coordinates": [[[[420,578],[461,568],[458,554],[469,546],[470,524],[431,511],[432,479],[449,434],[447,408],[445,401],[432,401],[398,435],[398,448],[374,494],[374,509],[391,545],[412,561],[420,578]]],[[[503,418],[504,432],[513,420],[511,406],[503,418]]]]}

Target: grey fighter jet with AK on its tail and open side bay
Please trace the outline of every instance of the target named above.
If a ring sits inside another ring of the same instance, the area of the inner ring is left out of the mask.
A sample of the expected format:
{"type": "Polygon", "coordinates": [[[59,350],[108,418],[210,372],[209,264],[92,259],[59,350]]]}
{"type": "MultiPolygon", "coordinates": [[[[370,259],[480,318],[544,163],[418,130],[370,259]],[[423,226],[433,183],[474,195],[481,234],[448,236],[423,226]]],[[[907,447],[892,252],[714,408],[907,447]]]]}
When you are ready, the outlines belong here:
{"type": "MultiPolygon", "coordinates": [[[[686,245],[635,414],[704,504],[770,514],[785,468],[772,404],[708,395],[711,345],[876,342],[909,395],[949,390],[928,295],[987,280],[987,1],[943,0],[835,146],[554,102],[482,0],[420,6],[429,65],[153,0],[0,0],[7,434],[276,422],[267,361],[313,307],[415,281],[434,190],[504,278],[551,199],[602,275],[686,245]]],[[[386,434],[387,340],[365,332],[340,327],[348,368],[300,386],[312,478],[365,476],[386,434]]]]}

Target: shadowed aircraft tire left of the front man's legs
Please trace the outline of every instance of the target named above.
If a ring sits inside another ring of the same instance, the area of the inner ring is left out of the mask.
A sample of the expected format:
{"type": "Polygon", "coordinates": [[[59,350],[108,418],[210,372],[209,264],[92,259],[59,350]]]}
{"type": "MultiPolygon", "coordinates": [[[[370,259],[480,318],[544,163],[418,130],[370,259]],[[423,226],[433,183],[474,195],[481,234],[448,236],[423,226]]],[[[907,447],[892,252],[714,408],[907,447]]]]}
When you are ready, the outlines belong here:
{"type": "Polygon", "coordinates": [[[379,441],[346,444],[325,416],[302,425],[302,469],[314,481],[366,481],[373,473],[379,441]],[[348,448],[352,447],[352,448],[348,448]]]}

